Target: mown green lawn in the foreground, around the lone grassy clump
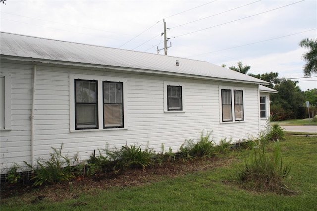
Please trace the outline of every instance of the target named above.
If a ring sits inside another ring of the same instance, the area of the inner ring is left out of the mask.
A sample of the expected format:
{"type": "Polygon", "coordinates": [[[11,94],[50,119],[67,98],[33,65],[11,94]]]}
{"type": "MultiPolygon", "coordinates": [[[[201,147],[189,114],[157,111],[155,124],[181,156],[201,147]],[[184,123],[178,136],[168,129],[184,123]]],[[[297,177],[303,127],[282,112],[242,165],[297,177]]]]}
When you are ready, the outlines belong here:
{"type": "MultiPolygon", "coordinates": [[[[292,169],[286,179],[292,194],[245,190],[236,181],[236,171],[243,167],[251,150],[229,152],[224,164],[208,170],[141,186],[94,189],[78,193],[73,199],[30,203],[32,193],[1,199],[1,211],[81,211],[81,210],[317,210],[317,139],[286,136],[280,143],[284,162],[292,169]]],[[[273,145],[269,145],[269,152],[273,145]]],[[[69,190],[65,190],[69,191],[69,190]]]]}

